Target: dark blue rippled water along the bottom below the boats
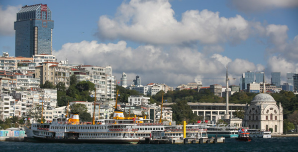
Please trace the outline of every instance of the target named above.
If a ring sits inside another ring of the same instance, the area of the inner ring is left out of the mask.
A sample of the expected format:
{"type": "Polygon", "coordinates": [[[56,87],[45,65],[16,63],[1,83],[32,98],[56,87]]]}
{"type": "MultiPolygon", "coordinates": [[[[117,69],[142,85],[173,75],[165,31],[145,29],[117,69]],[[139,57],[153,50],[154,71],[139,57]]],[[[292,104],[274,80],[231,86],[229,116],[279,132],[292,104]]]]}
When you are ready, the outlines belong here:
{"type": "Polygon", "coordinates": [[[112,145],[0,142],[0,152],[298,152],[298,137],[253,138],[251,142],[226,139],[224,144],[112,145]]]}

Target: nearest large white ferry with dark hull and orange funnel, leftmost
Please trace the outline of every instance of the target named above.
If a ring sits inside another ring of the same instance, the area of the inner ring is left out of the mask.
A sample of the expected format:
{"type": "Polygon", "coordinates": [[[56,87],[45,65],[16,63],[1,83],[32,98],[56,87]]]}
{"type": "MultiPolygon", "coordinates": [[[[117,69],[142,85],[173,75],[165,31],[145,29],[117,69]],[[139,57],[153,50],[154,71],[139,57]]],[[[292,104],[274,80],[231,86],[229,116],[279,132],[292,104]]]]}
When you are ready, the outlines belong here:
{"type": "Polygon", "coordinates": [[[80,122],[79,115],[54,118],[49,124],[36,123],[25,127],[28,141],[56,143],[137,144],[134,124],[92,124],[80,122]]]}

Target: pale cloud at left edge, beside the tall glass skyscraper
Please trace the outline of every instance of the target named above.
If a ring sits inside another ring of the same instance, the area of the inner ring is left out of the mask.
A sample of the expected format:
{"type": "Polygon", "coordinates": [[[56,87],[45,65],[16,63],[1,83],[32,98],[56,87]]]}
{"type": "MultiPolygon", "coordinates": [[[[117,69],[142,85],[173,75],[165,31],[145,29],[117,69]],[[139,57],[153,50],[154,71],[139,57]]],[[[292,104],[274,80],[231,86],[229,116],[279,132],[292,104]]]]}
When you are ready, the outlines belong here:
{"type": "Polygon", "coordinates": [[[7,6],[6,9],[0,5],[0,36],[14,35],[13,23],[16,20],[16,13],[21,6],[7,6]]]}

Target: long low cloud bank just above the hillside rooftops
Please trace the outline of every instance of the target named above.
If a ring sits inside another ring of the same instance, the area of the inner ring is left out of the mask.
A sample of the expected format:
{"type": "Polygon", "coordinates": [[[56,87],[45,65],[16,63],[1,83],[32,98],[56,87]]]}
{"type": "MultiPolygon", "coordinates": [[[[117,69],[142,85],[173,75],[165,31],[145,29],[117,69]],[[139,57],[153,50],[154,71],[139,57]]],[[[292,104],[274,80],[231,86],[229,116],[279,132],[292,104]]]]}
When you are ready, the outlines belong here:
{"type": "Polygon", "coordinates": [[[203,85],[212,83],[224,84],[225,66],[229,67],[229,75],[239,76],[243,70],[254,70],[255,66],[245,60],[231,59],[214,54],[205,56],[195,49],[171,47],[170,52],[163,47],[152,45],[139,46],[136,49],[126,46],[125,41],[118,43],[98,43],[97,41],[82,41],[80,43],[67,43],[61,50],[54,51],[57,60],[65,60],[70,63],[84,65],[111,65],[113,75],[120,79],[123,72],[133,79],[138,75],[142,78],[142,84],[159,82],[177,87],[181,83],[194,82],[195,77],[202,78],[203,85]],[[237,66],[232,66],[233,64],[237,66]],[[233,70],[235,67],[238,70],[233,70]]]}

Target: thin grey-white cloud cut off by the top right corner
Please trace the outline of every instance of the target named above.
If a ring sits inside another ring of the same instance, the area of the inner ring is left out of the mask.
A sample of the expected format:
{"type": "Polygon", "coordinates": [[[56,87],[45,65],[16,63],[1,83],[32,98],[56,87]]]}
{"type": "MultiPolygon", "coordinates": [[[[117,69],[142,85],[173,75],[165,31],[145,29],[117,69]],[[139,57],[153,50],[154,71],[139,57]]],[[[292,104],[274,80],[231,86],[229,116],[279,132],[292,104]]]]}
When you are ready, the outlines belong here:
{"type": "Polygon", "coordinates": [[[242,12],[252,13],[275,8],[298,7],[297,0],[228,0],[228,6],[242,12]]]}

